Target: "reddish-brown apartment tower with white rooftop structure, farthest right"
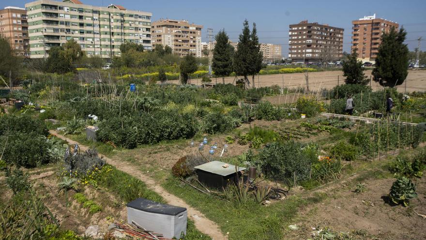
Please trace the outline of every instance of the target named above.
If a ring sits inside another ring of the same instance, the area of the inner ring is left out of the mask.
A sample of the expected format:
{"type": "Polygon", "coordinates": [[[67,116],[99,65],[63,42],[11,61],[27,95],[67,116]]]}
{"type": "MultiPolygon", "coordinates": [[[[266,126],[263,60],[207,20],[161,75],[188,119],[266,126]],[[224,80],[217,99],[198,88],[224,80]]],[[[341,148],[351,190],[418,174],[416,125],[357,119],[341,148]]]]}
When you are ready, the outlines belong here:
{"type": "Polygon", "coordinates": [[[376,18],[376,14],[352,21],[351,49],[357,49],[358,59],[374,63],[379,52],[380,36],[383,32],[389,32],[392,27],[397,29],[399,24],[376,18]]]}

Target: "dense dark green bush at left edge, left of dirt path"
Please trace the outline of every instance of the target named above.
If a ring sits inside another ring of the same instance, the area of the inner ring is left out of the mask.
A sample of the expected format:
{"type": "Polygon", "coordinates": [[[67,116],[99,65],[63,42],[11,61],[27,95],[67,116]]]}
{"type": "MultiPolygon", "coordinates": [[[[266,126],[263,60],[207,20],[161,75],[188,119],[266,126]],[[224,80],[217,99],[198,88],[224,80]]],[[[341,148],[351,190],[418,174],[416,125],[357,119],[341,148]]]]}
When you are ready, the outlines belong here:
{"type": "Polygon", "coordinates": [[[18,167],[33,168],[51,162],[50,146],[46,138],[36,132],[14,132],[9,137],[0,136],[0,149],[4,149],[3,160],[18,167]]]}

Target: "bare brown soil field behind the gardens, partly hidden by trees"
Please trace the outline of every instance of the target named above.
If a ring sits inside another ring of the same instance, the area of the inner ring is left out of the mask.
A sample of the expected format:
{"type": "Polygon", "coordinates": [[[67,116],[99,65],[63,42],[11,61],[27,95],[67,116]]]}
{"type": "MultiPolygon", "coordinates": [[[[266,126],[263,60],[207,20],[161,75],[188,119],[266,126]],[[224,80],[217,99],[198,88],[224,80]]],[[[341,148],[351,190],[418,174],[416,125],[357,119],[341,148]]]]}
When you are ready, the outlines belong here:
{"type": "MultiPolygon", "coordinates": [[[[365,71],[365,76],[370,78],[371,70],[365,71]]],[[[241,78],[241,77],[239,77],[241,78]]],[[[251,77],[249,78],[251,80],[251,77]]],[[[319,90],[321,88],[331,89],[337,82],[344,83],[345,77],[342,71],[324,71],[309,73],[309,87],[311,90],[319,90]]],[[[235,77],[225,78],[225,83],[233,83],[235,77]]],[[[272,85],[279,85],[288,88],[305,87],[306,80],[304,73],[290,73],[290,74],[274,74],[274,75],[259,75],[255,77],[256,87],[265,87],[272,85]],[[284,81],[284,84],[283,84],[284,81]]],[[[216,79],[212,79],[216,83],[216,79]]],[[[407,81],[407,92],[426,91],[426,71],[425,70],[409,70],[407,81]]],[[[179,83],[178,80],[170,81],[172,83],[179,83]]],[[[217,83],[221,83],[222,78],[217,78],[217,83]]],[[[193,84],[201,84],[201,79],[191,80],[193,84]]],[[[235,82],[234,82],[235,84],[235,82]]],[[[379,83],[371,82],[373,90],[382,88],[379,83]]],[[[404,92],[405,84],[397,86],[398,91],[404,92]]]]}

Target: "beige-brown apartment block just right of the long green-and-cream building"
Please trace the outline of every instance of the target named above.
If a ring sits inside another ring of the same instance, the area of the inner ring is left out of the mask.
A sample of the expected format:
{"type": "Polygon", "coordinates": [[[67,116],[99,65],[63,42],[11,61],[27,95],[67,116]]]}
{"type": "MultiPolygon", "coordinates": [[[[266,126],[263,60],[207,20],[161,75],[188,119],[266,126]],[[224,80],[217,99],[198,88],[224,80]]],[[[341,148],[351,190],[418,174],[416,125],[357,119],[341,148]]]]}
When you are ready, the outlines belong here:
{"type": "Polygon", "coordinates": [[[152,46],[169,46],[173,52],[183,57],[201,57],[201,30],[203,26],[186,20],[160,19],[152,22],[152,46]]]}

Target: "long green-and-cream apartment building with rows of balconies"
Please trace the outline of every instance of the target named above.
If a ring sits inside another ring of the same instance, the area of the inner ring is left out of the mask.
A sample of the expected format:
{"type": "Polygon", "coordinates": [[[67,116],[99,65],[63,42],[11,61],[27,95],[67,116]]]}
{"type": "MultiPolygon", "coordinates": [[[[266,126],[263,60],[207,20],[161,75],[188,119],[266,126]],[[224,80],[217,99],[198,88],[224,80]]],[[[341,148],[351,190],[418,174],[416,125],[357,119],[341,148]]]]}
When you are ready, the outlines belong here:
{"type": "Polygon", "coordinates": [[[25,4],[31,58],[45,58],[54,46],[75,40],[88,56],[120,55],[120,45],[133,42],[152,49],[152,13],[111,4],[85,5],[79,0],[37,0],[25,4]]]}

